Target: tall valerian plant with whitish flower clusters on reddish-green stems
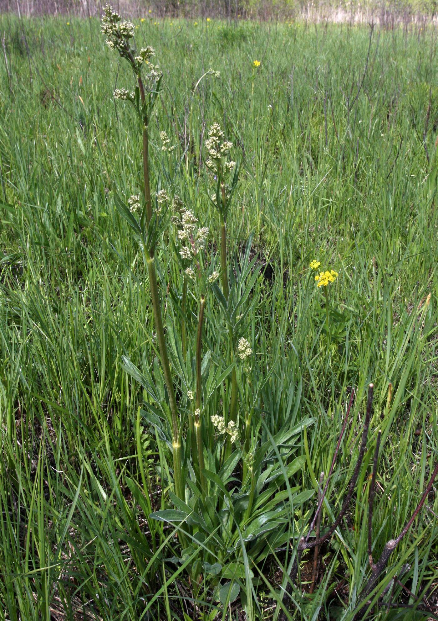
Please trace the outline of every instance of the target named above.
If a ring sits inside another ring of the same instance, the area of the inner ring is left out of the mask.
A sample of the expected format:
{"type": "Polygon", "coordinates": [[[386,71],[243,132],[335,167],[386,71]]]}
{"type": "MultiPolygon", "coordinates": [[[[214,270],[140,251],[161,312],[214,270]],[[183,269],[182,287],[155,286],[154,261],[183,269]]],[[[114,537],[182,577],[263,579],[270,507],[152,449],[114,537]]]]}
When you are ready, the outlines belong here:
{"type": "MultiPolygon", "coordinates": [[[[165,456],[168,448],[172,450],[172,468],[161,468],[160,474],[169,485],[173,509],[148,510],[147,518],[177,524],[180,558],[190,570],[195,591],[203,581],[207,587],[216,585],[221,601],[235,599],[243,581],[253,575],[248,555],[252,562],[263,560],[266,540],[273,547],[286,542],[291,507],[313,493],[296,499],[297,488],[289,486],[278,493],[285,474],[291,477],[304,465],[302,456],[294,458],[293,438],[313,421],[296,424],[292,419],[275,437],[260,420],[252,424],[271,371],[258,368],[256,343],[248,335],[248,316],[258,304],[251,294],[260,278],[256,257],[250,256],[251,240],[242,252],[232,253],[228,247],[227,222],[240,171],[239,161],[230,155],[234,145],[219,124],[211,124],[203,160],[211,188],[207,198],[219,216],[216,256],[215,244],[208,241],[210,227],[201,222],[195,206],[171,191],[177,179],[167,179],[169,189],[151,189],[149,127],[162,83],[162,73],[152,63],[155,51],[145,47],[137,52],[133,25],[109,5],[102,31],[108,47],[128,61],[136,81],[133,91],[119,88],[114,97],[136,112],[144,187],[142,194],[133,188],[126,201],[116,195],[115,204],[138,240],[147,268],[164,384],[157,363],[153,373],[139,371],[128,358],[123,363],[146,389],[142,414],[157,433],[160,453],[165,456]],[[172,292],[167,298],[165,323],[157,263],[164,238],[168,248],[173,247],[172,269],[181,285],[179,294],[172,292]],[[207,318],[209,297],[215,304],[207,318]],[[206,329],[208,348],[203,345],[206,329]],[[258,543],[262,533],[265,541],[258,543]]],[[[172,154],[175,140],[164,130],[159,138],[164,156],[172,154]]]]}

